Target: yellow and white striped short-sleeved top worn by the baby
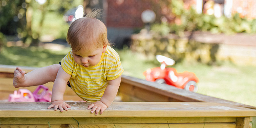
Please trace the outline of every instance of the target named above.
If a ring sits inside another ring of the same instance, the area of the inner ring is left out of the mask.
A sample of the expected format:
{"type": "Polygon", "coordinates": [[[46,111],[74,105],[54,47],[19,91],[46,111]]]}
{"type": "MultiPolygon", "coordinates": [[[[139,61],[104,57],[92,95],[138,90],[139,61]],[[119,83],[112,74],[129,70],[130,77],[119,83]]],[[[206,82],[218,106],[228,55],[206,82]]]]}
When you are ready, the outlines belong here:
{"type": "Polygon", "coordinates": [[[114,80],[122,75],[124,69],[119,55],[107,46],[102,53],[100,62],[92,67],[76,64],[72,51],[61,60],[62,69],[71,75],[69,83],[76,94],[85,101],[98,101],[102,97],[108,80],[114,80]]]}

